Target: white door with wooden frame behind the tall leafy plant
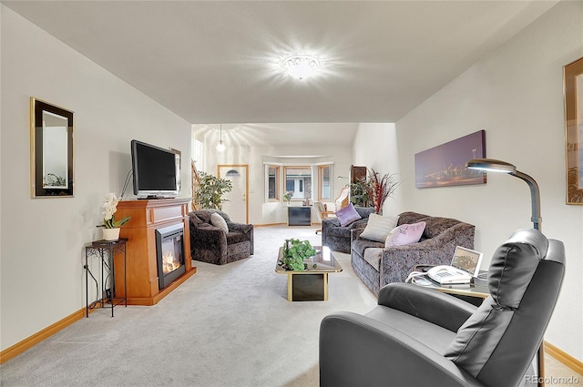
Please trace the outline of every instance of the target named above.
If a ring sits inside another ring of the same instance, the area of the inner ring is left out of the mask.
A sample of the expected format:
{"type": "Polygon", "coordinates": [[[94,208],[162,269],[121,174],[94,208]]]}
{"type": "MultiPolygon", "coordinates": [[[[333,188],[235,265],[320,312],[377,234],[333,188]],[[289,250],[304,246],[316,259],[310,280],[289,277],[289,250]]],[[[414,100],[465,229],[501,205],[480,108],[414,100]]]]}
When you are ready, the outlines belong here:
{"type": "Polygon", "coordinates": [[[249,204],[247,197],[249,194],[248,164],[225,164],[217,167],[217,175],[220,178],[227,178],[232,182],[233,189],[224,196],[229,201],[223,203],[222,210],[226,212],[234,222],[249,223],[249,204]]]}

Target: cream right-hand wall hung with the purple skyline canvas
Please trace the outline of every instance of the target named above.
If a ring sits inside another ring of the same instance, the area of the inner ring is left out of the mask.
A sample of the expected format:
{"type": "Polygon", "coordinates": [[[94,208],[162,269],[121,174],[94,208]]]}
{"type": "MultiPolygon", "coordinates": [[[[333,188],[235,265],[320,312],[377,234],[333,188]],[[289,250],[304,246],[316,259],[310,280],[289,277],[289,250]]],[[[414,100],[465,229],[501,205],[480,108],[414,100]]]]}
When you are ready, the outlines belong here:
{"type": "MultiPolygon", "coordinates": [[[[561,2],[396,123],[404,185],[399,211],[415,210],[476,225],[476,250],[490,257],[515,229],[531,228],[527,185],[488,174],[486,185],[414,188],[414,154],[486,129],[486,156],[511,162],[537,179],[542,230],[567,250],[564,286],[546,340],[583,361],[583,206],[568,206],[562,67],[583,56],[583,3],[561,2]]],[[[358,134],[357,164],[392,162],[380,141],[358,134]],[[368,147],[366,152],[363,147],[368,147]],[[373,149],[373,150],[370,150],[373,149]],[[379,157],[380,158],[377,158],[379,157]]],[[[378,129],[377,129],[378,130],[378,129]]]]}

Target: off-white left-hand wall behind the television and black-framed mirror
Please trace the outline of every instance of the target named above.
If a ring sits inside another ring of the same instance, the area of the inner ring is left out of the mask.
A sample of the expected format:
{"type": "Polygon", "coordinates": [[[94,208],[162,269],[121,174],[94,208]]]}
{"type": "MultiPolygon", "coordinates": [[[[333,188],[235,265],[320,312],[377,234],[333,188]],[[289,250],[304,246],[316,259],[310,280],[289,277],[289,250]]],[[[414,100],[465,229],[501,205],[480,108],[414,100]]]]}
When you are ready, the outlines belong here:
{"type": "MultiPolygon", "coordinates": [[[[9,8],[2,16],[1,349],[85,307],[83,247],[100,239],[138,138],[190,159],[190,125],[9,8]],[[75,198],[31,199],[29,97],[75,112],[75,198]],[[185,146],[187,144],[187,146],[185,146]]],[[[183,163],[182,196],[190,196],[183,163]]],[[[131,187],[130,187],[131,191],[131,187]]]]}

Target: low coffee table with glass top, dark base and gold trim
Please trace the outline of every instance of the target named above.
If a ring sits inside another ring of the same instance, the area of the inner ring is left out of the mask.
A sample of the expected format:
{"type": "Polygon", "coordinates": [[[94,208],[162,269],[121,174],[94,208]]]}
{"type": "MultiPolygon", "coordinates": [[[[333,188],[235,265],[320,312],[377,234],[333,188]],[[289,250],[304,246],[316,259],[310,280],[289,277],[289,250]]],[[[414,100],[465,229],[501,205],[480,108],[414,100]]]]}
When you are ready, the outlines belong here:
{"type": "Polygon", "coordinates": [[[275,272],[288,275],[288,300],[289,301],[327,301],[328,300],[328,274],[343,270],[338,260],[334,258],[330,248],[326,246],[313,247],[318,254],[308,262],[308,270],[285,270],[279,264],[280,252],[275,264],[275,272]],[[315,263],[315,269],[312,264],[315,263]]]}

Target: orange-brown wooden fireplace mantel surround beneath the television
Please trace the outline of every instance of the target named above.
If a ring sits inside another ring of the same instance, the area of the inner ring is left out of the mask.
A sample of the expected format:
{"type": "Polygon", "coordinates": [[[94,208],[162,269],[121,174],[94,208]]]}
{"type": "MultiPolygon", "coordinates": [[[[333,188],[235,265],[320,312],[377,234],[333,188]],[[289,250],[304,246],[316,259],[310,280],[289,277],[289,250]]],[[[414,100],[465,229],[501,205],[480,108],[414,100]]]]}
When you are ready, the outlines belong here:
{"type": "MultiPolygon", "coordinates": [[[[155,305],[197,268],[190,258],[189,203],[190,198],[122,200],[118,203],[117,219],[131,217],[121,227],[120,237],[127,243],[127,291],[129,305],[155,305]],[[163,290],[159,290],[156,260],[156,229],[182,223],[184,225],[184,261],[186,272],[163,290]]],[[[123,280],[123,263],[115,260],[116,283],[123,280]],[[119,277],[119,280],[118,280],[119,277]]],[[[120,287],[119,287],[120,288],[120,287]]],[[[123,296],[123,289],[116,289],[123,296]]]]}

